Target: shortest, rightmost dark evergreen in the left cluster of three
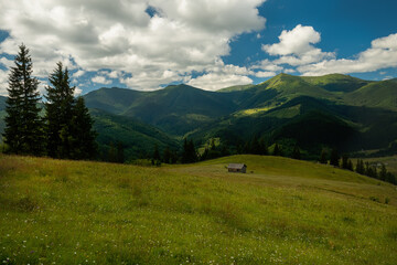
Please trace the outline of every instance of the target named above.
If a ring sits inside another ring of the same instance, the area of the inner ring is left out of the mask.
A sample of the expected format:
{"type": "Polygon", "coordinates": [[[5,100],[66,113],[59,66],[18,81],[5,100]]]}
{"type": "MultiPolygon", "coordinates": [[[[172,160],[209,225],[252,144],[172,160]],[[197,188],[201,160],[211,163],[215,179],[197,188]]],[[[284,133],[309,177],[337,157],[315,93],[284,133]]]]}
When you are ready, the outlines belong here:
{"type": "MultiPolygon", "coordinates": [[[[93,119],[85,106],[84,98],[78,97],[76,105],[73,107],[73,117],[71,120],[71,135],[68,142],[71,144],[69,157],[73,159],[93,159],[97,152],[97,144],[95,138],[97,134],[93,129],[93,119]]],[[[122,144],[118,142],[117,150],[122,148],[122,144]]],[[[120,157],[118,155],[118,157],[120,157]]],[[[124,162],[124,158],[119,158],[118,162],[124,162]],[[122,161],[121,161],[122,160],[122,161]]]]}

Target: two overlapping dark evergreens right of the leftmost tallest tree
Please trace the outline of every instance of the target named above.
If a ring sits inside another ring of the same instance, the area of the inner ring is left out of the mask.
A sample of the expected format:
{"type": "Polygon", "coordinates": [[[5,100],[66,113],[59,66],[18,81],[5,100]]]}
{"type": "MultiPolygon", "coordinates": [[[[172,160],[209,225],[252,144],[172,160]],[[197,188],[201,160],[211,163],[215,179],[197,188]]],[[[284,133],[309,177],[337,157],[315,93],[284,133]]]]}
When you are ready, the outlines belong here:
{"type": "Polygon", "coordinates": [[[51,86],[46,87],[45,103],[47,155],[54,158],[93,159],[97,153],[93,119],[84,98],[74,98],[75,87],[71,87],[67,68],[57,63],[49,80],[51,86]]]}

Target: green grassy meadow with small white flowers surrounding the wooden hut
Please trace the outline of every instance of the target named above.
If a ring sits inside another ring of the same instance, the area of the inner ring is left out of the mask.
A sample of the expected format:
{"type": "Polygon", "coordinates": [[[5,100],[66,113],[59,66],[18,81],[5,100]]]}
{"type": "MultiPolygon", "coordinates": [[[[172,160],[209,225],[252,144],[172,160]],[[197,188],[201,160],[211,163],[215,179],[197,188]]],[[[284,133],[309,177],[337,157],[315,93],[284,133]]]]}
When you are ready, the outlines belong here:
{"type": "Polygon", "coordinates": [[[275,157],[144,168],[1,156],[0,263],[396,264],[397,190],[275,157]]]}

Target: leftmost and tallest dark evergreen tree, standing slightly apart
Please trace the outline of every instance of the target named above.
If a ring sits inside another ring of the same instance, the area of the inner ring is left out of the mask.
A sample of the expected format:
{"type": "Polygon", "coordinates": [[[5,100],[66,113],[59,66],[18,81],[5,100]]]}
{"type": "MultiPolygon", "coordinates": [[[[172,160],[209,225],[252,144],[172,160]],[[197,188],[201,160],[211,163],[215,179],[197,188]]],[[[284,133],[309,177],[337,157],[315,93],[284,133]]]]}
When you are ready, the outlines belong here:
{"type": "Polygon", "coordinates": [[[21,44],[9,75],[4,142],[12,153],[43,155],[43,121],[39,115],[39,81],[32,77],[29,49],[21,44]]]}

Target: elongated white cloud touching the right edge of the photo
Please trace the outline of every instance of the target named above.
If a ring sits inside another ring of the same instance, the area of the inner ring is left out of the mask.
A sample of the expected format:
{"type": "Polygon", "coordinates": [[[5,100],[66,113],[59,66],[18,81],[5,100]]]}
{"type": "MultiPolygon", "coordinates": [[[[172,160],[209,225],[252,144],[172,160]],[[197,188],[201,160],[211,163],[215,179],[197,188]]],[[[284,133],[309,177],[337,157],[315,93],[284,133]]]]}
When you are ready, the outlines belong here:
{"type": "Polygon", "coordinates": [[[298,67],[303,75],[365,73],[397,66],[397,34],[376,39],[355,59],[328,60],[298,67]]]}

